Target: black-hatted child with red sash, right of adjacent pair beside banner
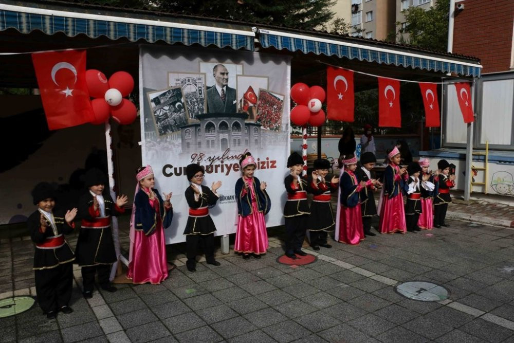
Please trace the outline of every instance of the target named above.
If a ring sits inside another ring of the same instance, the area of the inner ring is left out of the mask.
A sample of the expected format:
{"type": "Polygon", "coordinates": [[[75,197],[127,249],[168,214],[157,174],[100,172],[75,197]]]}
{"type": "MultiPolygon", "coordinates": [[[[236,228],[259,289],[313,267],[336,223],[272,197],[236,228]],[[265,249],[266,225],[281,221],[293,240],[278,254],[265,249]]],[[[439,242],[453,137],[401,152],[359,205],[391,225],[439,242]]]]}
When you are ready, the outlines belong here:
{"type": "Polygon", "coordinates": [[[307,181],[309,193],[313,194],[307,228],[309,230],[310,246],[314,250],[319,250],[320,246],[332,248],[332,245],[327,242],[327,232],[334,231],[336,224],[332,211],[331,194],[337,191],[339,178],[334,175],[330,182],[325,179],[330,167],[330,162],[327,159],[316,159],[314,161],[314,171],[307,181]]]}

